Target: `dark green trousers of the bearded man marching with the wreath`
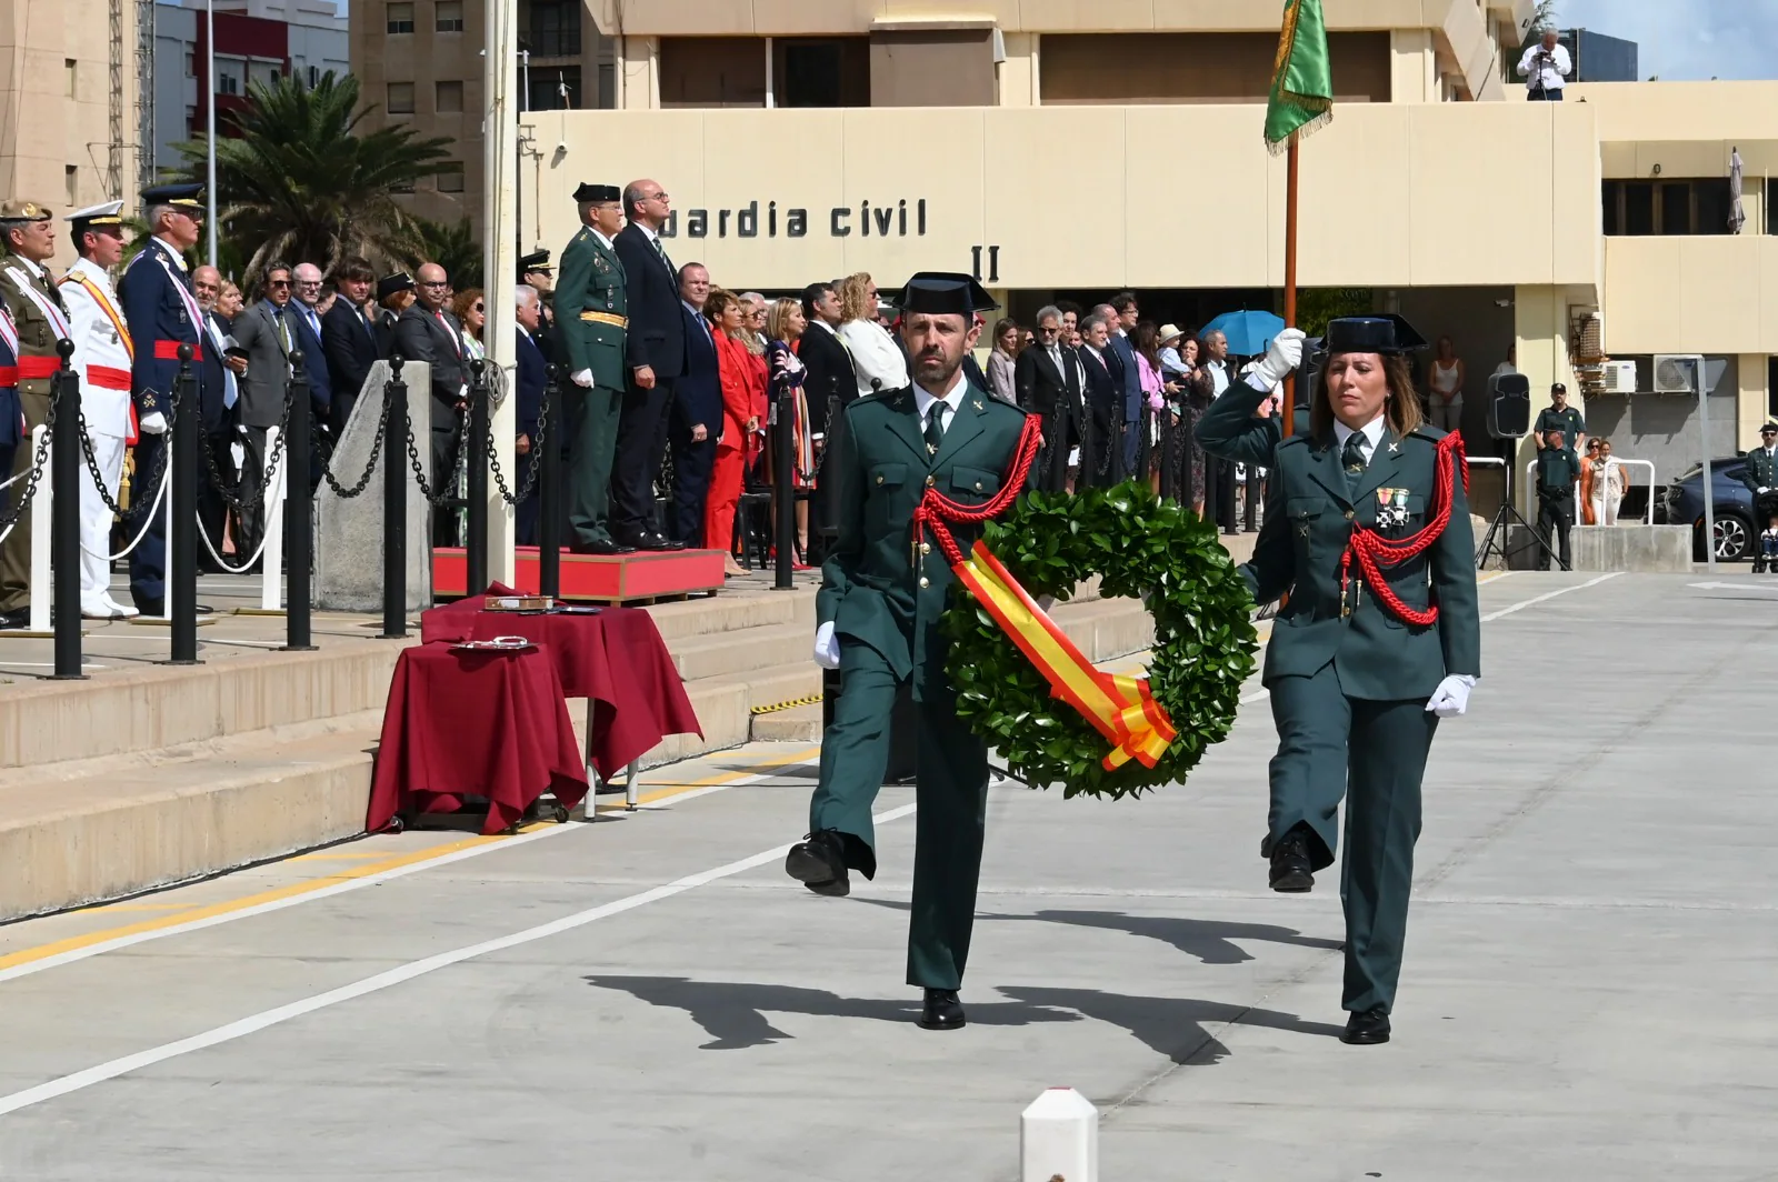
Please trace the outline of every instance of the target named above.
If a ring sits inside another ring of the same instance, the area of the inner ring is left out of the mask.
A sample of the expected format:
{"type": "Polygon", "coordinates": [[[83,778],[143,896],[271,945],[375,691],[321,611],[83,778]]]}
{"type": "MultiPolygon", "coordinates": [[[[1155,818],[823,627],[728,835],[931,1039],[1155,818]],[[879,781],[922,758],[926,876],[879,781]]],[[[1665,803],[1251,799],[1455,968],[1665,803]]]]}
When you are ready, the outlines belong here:
{"type": "MultiPolygon", "coordinates": [[[[889,768],[889,716],[896,681],[889,661],[839,638],[841,693],[821,739],[821,780],[809,803],[809,832],[846,834],[846,864],[877,875],[871,805],[889,768]]],[[[981,830],[987,819],[989,748],[948,702],[921,702],[914,828],[914,912],[907,933],[907,983],[960,988],[976,922],[981,830]]]]}

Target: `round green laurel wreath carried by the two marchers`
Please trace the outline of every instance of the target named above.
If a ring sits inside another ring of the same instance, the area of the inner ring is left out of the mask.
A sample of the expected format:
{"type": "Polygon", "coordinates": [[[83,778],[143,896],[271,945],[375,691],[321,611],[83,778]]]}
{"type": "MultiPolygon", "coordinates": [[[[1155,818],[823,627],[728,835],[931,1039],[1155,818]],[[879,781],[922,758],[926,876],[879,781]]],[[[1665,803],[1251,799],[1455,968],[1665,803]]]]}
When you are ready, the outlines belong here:
{"type": "Polygon", "coordinates": [[[1184,780],[1204,752],[1229,736],[1252,675],[1259,635],[1253,597],[1216,537],[1216,526],[1134,482],[1077,494],[1031,492],[983,531],[989,549],[1033,595],[1069,599],[1099,576],[1099,594],[1140,597],[1154,615],[1149,686],[1179,738],[1145,768],[1113,771],[1109,750],[962,587],[942,629],[957,713],[1031,786],[1061,784],[1065,796],[1140,796],[1184,780]]]}

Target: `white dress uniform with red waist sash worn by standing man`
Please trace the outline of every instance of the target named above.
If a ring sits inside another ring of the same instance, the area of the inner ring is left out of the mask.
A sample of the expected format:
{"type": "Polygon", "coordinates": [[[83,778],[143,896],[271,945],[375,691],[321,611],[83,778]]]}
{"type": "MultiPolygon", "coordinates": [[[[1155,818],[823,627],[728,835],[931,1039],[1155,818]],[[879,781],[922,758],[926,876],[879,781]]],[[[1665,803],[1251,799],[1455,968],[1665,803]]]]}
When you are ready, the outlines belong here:
{"type": "MultiPolygon", "coordinates": [[[[124,323],[123,306],[117,302],[110,276],[89,260],[80,260],[69,268],[60,281],[60,295],[73,329],[73,366],[80,375],[80,409],[87,419],[87,435],[92,439],[92,459],[105,476],[105,491],[117,499],[124,439],[130,435],[130,370],[135,361],[128,331],[119,332],[119,325],[124,323]]],[[[153,496],[153,489],[139,492],[153,496]]],[[[110,531],[112,510],[100,499],[92,475],[82,464],[80,610],[87,615],[112,615],[110,531]]]]}

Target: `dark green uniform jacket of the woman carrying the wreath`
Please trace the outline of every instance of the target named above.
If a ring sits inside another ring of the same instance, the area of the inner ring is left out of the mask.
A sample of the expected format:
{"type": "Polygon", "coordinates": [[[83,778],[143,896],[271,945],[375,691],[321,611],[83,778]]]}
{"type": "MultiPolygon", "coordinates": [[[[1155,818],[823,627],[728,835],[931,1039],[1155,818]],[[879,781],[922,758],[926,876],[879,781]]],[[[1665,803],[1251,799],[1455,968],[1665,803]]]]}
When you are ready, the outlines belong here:
{"type": "Polygon", "coordinates": [[[1405,439],[1385,432],[1353,499],[1346,496],[1332,432],[1326,439],[1293,435],[1278,444],[1266,480],[1266,524],[1253,560],[1241,567],[1255,601],[1289,594],[1266,647],[1266,684],[1309,677],[1334,661],[1348,697],[1399,700],[1430,697],[1447,674],[1481,675],[1476,539],[1462,473],[1444,535],[1419,556],[1383,569],[1389,587],[1410,608],[1437,603],[1438,622],[1412,627],[1367,587],[1348,594],[1348,604],[1357,601],[1350,615],[1341,604],[1339,562],[1353,523],[1374,526],[1378,491],[1399,489],[1408,519],[1385,530],[1385,537],[1417,533],[1426,524],[1442,437],[1435,427],[1419,427],[1405,439]]]}

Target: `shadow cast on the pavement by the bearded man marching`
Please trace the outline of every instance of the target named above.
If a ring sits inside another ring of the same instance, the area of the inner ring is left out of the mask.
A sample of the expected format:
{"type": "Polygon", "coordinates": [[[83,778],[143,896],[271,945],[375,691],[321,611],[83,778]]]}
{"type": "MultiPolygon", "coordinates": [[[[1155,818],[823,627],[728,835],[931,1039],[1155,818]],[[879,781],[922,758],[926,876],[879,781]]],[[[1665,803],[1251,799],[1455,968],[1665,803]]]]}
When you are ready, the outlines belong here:
{"type": "MultiPolygon", "coordinates": [[[[686,978],[619,978],[590,976],[587,985],[631,994],[651,1006],[685,1010],[704,1027],[711,1042],[699,1050],[745,1050],[765,1047],[786,1038],[784,1031],[766,1020],[766,1013],[807,1013],[830,1018],[862,1018],[869,1022],[914,1024],[919,1004],[914,1001],[885,1001],[841,997],[818,988],[793,985],[747,985],[740,981],[692,981],[686,978]]],[[[974,1026],[1029,1026],[1033,1022],[1079,1022],[1079,1015],[1033,1006],[1021,1001],[969,1004],[969,1022],[974,1026]]]]}

